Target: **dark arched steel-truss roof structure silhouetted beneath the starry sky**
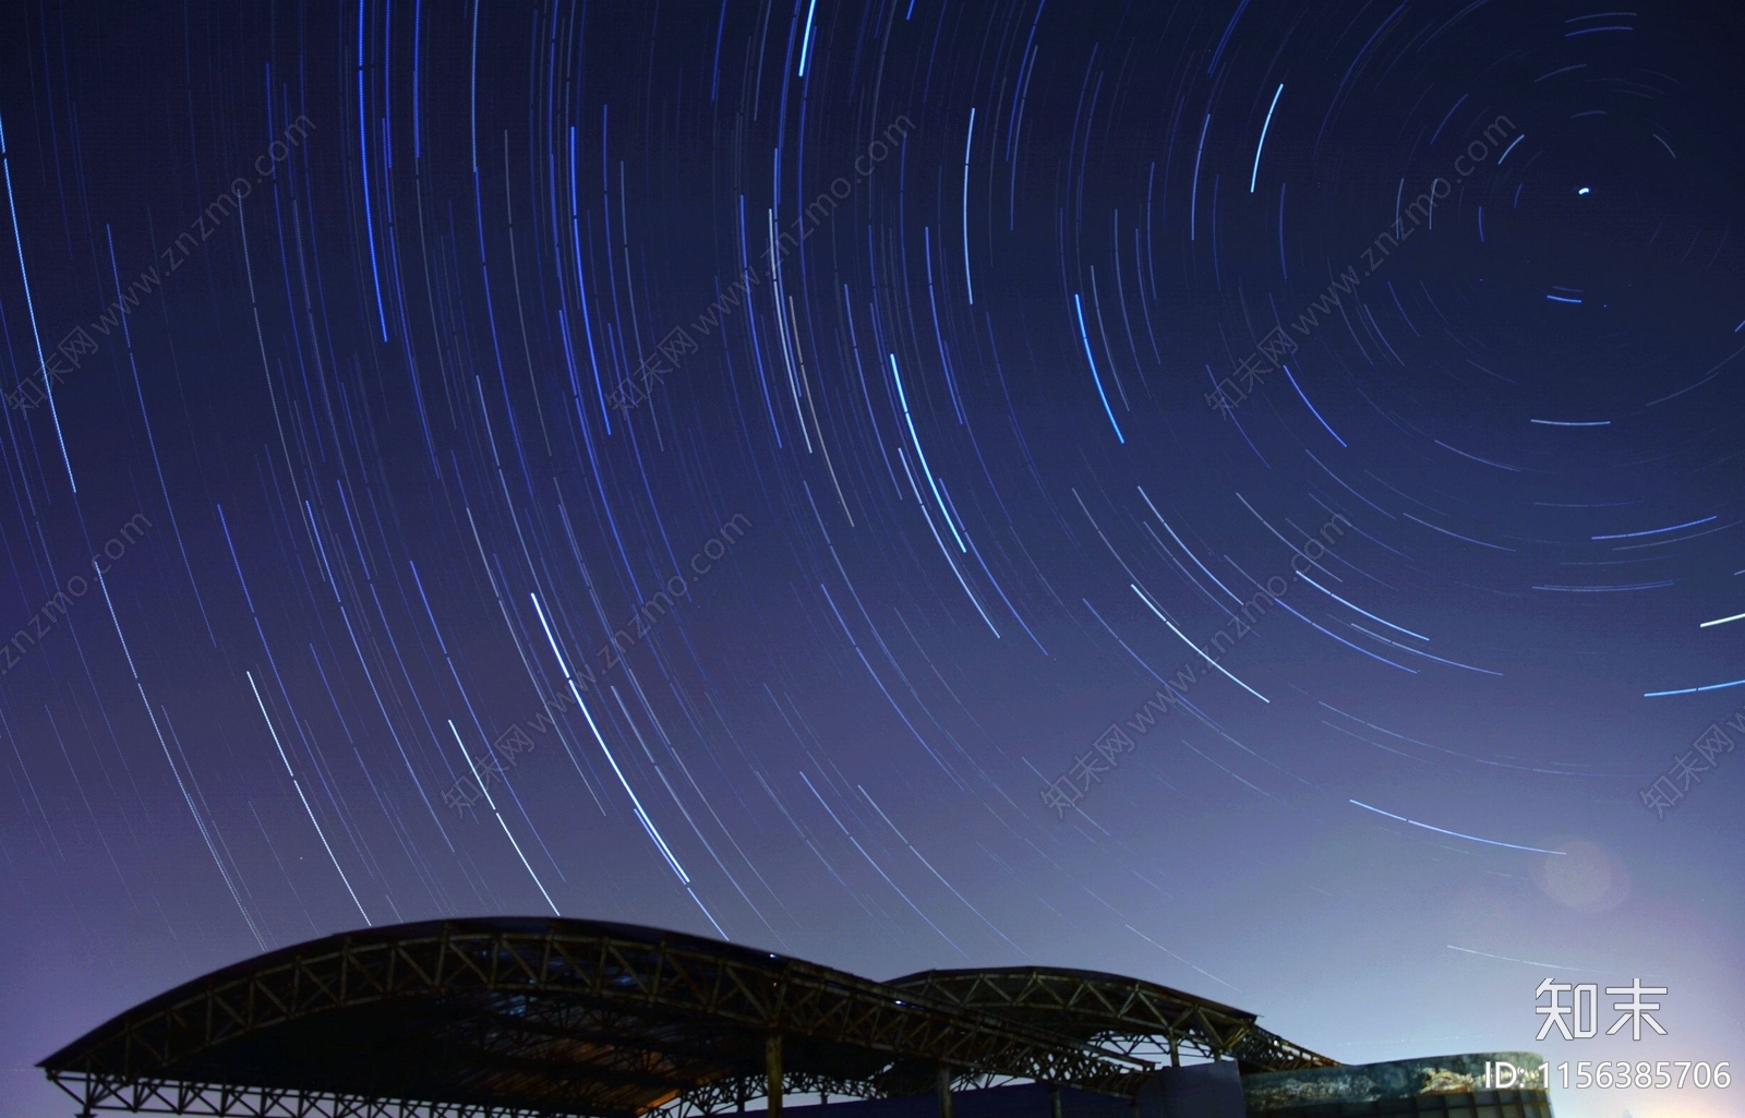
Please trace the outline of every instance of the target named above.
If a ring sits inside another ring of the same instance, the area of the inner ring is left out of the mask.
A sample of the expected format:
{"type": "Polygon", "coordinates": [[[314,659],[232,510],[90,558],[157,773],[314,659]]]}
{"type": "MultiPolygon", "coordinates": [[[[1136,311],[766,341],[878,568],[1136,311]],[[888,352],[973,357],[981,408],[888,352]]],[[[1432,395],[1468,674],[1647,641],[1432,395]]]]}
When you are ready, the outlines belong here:
{"type": "Polygon", "coordinates": [[[1335,1066],[1253,1013],[1120,975],[874,982],[633,924],[455,919],[227,966],[42,1067],[84,1113],[693,1118],[1007,1080],[1133,1095],[1146,1055],[1183,1048],[1244,1071],[1335,1066]]]}

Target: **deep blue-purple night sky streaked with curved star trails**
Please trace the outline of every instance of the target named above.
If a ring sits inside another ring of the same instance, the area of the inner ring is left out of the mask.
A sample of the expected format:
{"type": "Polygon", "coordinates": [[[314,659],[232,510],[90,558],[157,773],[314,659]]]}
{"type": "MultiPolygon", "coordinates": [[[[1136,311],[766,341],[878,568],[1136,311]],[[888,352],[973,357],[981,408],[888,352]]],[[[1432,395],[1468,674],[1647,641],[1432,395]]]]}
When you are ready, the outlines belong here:
{"type": "Polygon", "coordinates": [[[1597,7],[9,5],[0,1113],[476,914],[1745,1053],[1745,12],[1597,7]]]}

